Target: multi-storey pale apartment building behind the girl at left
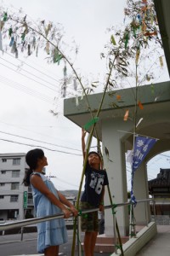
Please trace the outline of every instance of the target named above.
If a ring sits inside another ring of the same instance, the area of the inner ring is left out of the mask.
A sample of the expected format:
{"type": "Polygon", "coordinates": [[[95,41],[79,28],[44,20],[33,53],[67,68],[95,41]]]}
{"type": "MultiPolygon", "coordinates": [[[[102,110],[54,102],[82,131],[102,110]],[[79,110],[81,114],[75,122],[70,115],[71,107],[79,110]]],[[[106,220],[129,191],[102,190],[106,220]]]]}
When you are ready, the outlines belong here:
{"type": "Polygon", "coordinates": [[[31,188],[22,184],[26,154],[0,154],[0,219],[24,219],[33,216],[31,188]]]}

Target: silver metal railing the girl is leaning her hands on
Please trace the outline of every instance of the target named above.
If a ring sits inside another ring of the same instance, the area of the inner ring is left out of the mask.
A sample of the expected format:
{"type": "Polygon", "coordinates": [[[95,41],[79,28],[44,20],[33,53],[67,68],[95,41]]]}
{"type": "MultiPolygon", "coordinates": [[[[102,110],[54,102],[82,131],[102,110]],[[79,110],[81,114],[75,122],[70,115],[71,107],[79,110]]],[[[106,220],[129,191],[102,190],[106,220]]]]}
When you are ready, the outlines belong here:
{"type": "MultiPolygon", "coordinates": [[[[147,211],[147,207],[146,207],[146,203],[152,201],[153,202],[153,211],[154,211],[154,219],[156,221],[156,207],[155,207],[155,200],[154,199],[145,199],[145,200],[139,200],[137,201],[137,203],[142,203],[144,202],[144,208],[145,208],[145,219],[146,219],[146,226],[148,226],[148,224],[150,223],[149,221],[149,217],[148,217],[148,211],[147,211]]],[[[131,205],[131,207],[133,207],[133,203],[130,201],[127,201],[125,203],[117,203],[117,204],[113,204],[113,205],[109,205],[109,206],[105,206],[105,209],[114,209],[116,207],[125,207],[131,205]]],[[[93,208],[90,210],[83,210],[79,212],[79,216],[81,216],[83,213],[88,213],[88,212],[96,212],[99,211],[99,208],[93,208]]],[[[73,216],[73,215],[71,215],[73,216]]],[[[64,213],[61,214],[56,214],[56,215],[50,215],[47,217],[40,217],[40,218],[27,218],[24,220],[20,220],[20,221],[14,221],[13,223],[5,223],[5,224],[0,224],[0,230],[3,230],[3,232],[5,230],[11,230],[14,228],[21,228],[21,241],[23,240],[23,227],[26,227],[27,225],[31,225],[31,224],[37,224],[37,223],[41,223],[44,221],[48,221],[48,220],[53,220],[56,218],[64,218],[64,213]]],[[[131,222],[131,220],[130,220],[131,222]]],[[[80,228],[80,225],[77,224],[77,229],[80,228]]],[[[113,214],[113,232],[114,232],[114,240],[115,240],[115,253],[117,253],[116,250],[116,216],[115,214],[113,214]]],[[[80,234],[79,230],[77,232],[77,234],[80,234]]],[[[80,241],[80,240],[79,240],[80,241]]],[[[81,248],[78,246],[78,255],[81,255],[81,248]]]]}

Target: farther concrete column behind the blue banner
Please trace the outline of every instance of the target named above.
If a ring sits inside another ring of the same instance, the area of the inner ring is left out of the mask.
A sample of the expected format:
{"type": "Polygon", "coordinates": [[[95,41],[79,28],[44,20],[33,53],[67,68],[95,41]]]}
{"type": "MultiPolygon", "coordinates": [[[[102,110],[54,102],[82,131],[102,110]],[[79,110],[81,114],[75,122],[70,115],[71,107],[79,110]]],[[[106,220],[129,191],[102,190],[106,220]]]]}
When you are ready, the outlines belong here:
{"type": "MultiPolygon", "coordinates": [[[[147,169],[144,161],[134,173],[133,192],[137,201],[149,198],[147,169]]],[[[150,203],[138,203],[134,208],[134,215],[137,224],[147,224],[146,220],[150,220],[150,203]]]]}

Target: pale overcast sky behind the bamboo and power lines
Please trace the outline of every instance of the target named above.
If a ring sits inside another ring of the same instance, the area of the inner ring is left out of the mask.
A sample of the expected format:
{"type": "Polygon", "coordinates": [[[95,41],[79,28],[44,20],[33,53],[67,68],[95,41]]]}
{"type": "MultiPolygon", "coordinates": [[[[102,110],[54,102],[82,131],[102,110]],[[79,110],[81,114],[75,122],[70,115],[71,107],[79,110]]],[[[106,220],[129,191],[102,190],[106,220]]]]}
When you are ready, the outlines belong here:
{"type": "MultiPolygon", "coordinates": [[[[75,40],[79,47],[78,71],[87,78],[105,73],[105,62],[99,54],[108,41],[106,28],[121,26],[126,0],[5,0],[0,3],[15,11],[22,8],[31,20],[61,23],[66,42],[75,40]]],[[[42,56],[19,55],[16,60],[8,54],[0,53],[0,153],[26,153],[32,145],[56,150],[44,149],[48,157],[47,174],[55,176],[53,181],[58,189],[78,189],[82,175],[81,129],[63,117],[62,100],[54,102],[63,74],[57,65],[48,65],[42,56]],[[54,117],[50,109],[59,110],[59,116],[54,117]]],[[[160,166],[156,162],[151,177],[156,177],[160,167],[168,168],[167,159],[161,157],[160,166]]],[[[127,176],[129,180],[130,175],[127,176]]]]}

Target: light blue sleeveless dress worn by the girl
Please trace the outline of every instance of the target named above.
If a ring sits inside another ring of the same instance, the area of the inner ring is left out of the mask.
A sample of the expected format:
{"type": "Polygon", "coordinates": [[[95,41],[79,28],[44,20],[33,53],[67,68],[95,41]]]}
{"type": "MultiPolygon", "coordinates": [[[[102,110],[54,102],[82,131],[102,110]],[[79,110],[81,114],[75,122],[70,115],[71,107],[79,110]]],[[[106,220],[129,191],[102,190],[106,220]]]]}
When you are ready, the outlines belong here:
{"type": "MultiPolygon", "coordinates": [[[[54,184],[48,180],[42,173],[33,172],[42,177],[42,181],[48,189],[57,197],[57,190],[54,184]]],[[[59,214],[62,211],[56,207],[48,198],[31,184],[34,207],[36,217],[45,217],[49,215],[59,214]]],[[[44,249],[50,246],[57,246],[68,241],[67,230],[65,228],[65,220],[57,218],[37,224],[37,252],[44,253],[44,249]]]]}

